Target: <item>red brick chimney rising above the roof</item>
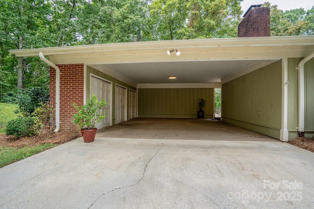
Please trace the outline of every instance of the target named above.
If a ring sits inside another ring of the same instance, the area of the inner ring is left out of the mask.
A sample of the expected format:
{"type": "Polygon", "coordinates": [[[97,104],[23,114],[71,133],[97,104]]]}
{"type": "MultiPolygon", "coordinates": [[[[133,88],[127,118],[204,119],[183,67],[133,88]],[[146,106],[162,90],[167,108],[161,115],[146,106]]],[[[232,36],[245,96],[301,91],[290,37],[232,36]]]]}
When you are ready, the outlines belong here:
{"type": "Polygon", "coordinates": [[[270,36],[270,9],[262,4],[251,5],[237,26],[237,37],[270,36]]]}

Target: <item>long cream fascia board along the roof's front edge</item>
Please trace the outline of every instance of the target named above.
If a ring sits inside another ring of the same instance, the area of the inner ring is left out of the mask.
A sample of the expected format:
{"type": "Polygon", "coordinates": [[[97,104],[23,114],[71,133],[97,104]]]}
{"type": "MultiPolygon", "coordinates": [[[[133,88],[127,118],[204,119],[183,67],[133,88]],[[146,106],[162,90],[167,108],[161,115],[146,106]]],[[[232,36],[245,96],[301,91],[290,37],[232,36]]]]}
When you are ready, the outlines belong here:
{"type": "Polygon", "coordinates": [[[314,36],[284,36],[284,37],[250,37],[250,38],[222,38],[222,39],[192,39],[192,40],[172,40],[172,41],[151,41],[151,42],[129,42],[100,45],[82,45],[82,46],[60,46],[33,49],[14,49],[10,53],[17,57],[38,56],[39,51],[45,55],[57,54],[78,54],[78,53],[97,53],[97,52],[126,52],[137,53],[154,53],[155,50],[168,49],[188,49],[188,48],[247,48],[263,46],[314,46],[314,36]]]}

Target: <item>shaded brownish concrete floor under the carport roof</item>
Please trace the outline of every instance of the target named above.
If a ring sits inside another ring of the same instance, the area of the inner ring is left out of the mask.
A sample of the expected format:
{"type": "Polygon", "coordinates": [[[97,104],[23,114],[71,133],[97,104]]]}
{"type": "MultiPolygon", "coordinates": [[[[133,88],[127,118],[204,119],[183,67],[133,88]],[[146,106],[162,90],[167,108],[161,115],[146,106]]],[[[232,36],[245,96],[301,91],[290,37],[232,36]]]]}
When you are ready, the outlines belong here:
{"type": "Polygon", "coordinates": [[[97,136],[131,139],[279,141],[220,120],[185,118],[134,118],[99,130],[97,136]]]}

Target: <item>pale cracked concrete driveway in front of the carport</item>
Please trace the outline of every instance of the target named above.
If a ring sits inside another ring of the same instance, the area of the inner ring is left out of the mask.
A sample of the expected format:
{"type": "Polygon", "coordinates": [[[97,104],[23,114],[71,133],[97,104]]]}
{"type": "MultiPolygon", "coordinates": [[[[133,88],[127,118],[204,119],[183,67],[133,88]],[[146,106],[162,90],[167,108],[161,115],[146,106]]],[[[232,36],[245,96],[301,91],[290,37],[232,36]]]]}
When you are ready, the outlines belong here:
{"type": "Polygon", "coordinates": [[[80,138],[0,168],[0,208],[314,208],[313,176],[279,140],[80,138]]]}

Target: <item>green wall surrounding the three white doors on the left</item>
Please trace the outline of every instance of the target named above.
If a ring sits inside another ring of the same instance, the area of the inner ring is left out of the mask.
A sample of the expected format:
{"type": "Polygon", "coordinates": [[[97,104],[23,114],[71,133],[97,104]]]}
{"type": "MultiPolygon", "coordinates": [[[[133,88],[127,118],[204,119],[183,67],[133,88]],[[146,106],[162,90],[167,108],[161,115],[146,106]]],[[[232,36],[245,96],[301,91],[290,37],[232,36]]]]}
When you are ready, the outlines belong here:
{"type": "MultiPolygon", "coordinates": [[[[112,124],[115,124],[115,92],[116,92],[116,84],[121,85],[123,87],[126,87],[128,89],[136,91],[136,88],[126,84],[114,77],[111,77],[110,75],[105,74],[104,72],[101,72],[99,70],[93,69],[89,66],[86,67],[86,98],[90,98],[90,74],[97,75],[99,77],[102,77],[108,81],[112,82],[112,124]]],[[[127,98],[129,98],[129,91],[127,91],[127,98]]],[[[129,118],[129,99],[127,99],[127,116],[129,118]]]]}

